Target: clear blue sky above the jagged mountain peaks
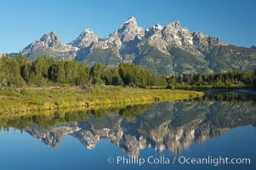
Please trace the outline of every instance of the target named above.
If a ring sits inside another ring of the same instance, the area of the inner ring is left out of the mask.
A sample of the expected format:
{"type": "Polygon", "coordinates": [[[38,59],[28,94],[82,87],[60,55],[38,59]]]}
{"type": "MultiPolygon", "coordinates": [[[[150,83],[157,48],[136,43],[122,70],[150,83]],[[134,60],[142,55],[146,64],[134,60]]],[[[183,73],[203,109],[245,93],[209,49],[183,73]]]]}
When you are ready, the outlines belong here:
{"type": "Polygon", "coordinates": [[[1,0],[0,53],[19,52],[48,31],[71,42],[85,29],[108,36],[135,16],[139,26],[180,20],[243,47],[256,44],[254,0],[1,0]]]}

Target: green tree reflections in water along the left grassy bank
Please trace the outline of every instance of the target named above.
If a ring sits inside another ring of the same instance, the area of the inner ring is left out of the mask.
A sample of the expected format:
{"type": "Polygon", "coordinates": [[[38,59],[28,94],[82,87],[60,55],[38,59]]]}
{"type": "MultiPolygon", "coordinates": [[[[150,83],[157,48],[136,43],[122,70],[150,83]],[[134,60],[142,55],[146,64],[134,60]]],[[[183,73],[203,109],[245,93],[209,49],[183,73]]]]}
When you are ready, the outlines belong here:
{"type": "Polygon", "coordinates": [[[0,117],[0,129],[14,127],[17,129],[26,129],[32,123],[39,127],[47,128],[54,127],[57,122],[77,122],[86,121],[88,115],[93,115],[96,119],[102,119],[107,114],[118,114],[125,118],[128,116],[136,116],[145,111],[146,108],[151,108],[152,105],[128,105],[124,108],[111,109],[91,109],[86,111],[54,111],[51,114],[40,113],[38,115],[26,116],[3,116],[0,117]]]}

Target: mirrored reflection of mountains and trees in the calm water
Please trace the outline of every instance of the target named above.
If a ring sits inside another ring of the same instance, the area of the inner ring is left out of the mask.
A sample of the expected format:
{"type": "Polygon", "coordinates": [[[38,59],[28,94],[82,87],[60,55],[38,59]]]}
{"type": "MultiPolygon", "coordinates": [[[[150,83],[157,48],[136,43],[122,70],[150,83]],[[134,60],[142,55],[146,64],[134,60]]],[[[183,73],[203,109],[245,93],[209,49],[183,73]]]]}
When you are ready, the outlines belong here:
{"type": "Polygon", "coordinates": [[[254,97],[207,94],[203,99],[174,103],[1,119],[0,127],[23,129],[52,147],[70,134],[87,149],[93,149],[100,139],[108,139],[130,155],[139,155],[145,147],[180,153],[190,144],[230,128],[255,125],[255,111],[254,97]]]}

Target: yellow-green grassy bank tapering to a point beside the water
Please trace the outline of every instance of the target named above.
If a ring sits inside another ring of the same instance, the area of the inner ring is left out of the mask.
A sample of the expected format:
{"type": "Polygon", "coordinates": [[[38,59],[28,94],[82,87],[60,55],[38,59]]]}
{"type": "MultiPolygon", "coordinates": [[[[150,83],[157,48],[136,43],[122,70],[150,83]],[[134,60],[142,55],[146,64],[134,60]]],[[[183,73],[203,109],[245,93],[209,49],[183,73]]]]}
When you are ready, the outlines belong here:
{"type": "Polygon", "coordinates": [[[196,91],[112,86],[87,89],[75,87],[5,88],[0,90],[0,115],[73,107],[145,104],[163,100],[191,99],[202,95],[202,92],[196,91]]]}

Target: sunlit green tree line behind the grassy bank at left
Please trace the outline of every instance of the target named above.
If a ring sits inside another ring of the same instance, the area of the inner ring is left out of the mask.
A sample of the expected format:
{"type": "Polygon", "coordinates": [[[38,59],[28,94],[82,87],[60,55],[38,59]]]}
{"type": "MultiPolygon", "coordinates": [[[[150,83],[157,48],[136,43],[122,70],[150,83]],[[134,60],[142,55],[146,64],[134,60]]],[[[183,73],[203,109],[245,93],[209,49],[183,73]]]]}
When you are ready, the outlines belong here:
{"type": "Polygon", "coordinates": [[[2,86],[167,86],[165,76],[154,75],[139,65],[121,64],[110,67],[95,63],[90,68],[84,62],[56,61],[46,56],[31,61],[22,54],[12,58],[4,55],[0,59],[0,71],[2,86]]]}

